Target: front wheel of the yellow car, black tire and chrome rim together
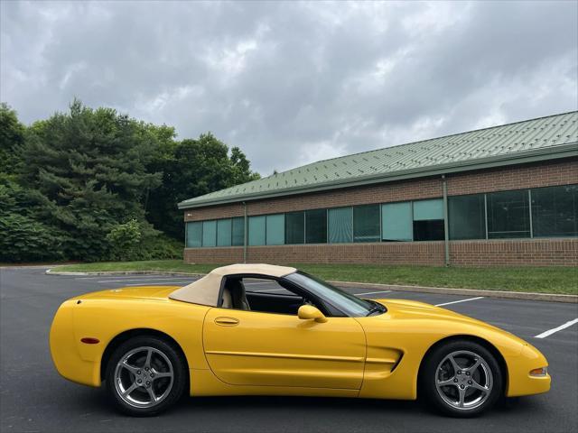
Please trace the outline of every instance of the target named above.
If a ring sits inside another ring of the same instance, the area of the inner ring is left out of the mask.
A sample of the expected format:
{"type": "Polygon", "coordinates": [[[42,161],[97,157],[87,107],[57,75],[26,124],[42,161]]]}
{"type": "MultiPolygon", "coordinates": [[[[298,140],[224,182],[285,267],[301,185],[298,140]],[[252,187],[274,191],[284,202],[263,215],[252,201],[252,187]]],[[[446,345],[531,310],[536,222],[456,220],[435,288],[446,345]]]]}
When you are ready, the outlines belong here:
{"type": "Polygon", "coordinates": [[[503,383],[499,363],[486,347],[456,340],[435,347],[424,359],[418,383],[419,398],[445,415],[470,418],[489,410],[500,399],[503,383]],[[452,364],[450,358],[457,360],[457,364],[452,364]],[[478,367],[476,363],[480,363],[478,367]],[[489,391],[482,391],[478,385],[489,391]]]}

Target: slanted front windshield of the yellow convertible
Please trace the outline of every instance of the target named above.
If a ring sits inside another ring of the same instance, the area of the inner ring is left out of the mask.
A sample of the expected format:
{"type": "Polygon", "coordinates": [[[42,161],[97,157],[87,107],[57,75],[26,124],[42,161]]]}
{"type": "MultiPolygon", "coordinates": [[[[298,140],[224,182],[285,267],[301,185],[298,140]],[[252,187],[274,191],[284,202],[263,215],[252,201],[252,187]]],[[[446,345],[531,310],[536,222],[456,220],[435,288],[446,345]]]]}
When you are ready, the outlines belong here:
{"type": "Polygon", "coordinates": [[[297,284],[315,296],[329,302],[336,309],[350,317],[369,316],[378,312],[385,312],[386,308],[373,300],[359,299],[345,290],[332,286],[327,281],[313,277],[305,272],[294,272],[286,275],[285,280],[297,284]]]}

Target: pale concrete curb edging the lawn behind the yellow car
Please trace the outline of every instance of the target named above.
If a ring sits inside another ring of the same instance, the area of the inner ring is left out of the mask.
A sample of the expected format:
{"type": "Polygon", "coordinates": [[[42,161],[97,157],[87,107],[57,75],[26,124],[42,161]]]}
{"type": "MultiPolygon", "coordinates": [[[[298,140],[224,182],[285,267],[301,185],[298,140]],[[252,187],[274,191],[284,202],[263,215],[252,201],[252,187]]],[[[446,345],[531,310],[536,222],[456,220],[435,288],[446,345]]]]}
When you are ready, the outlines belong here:
{"type": "MultiPolygon", "coordinates": [[[[110,272],[45,272],[48,275],[183,275],[187,277],[203,277],[206,273],[170,272],[170,271],[110,271],[110,272]]],[[[541,300],[545,302],[578,303],[578,295],[563,295],[557,293],[532,293],[526,291],[508,290],[480,290],[480,289],[452,289],[449,287],[403,286],[397,284],[380,284],[378,282],[329,281],[340,287],[359,289],[378,288],[394,291],[411,291],[415,293],[434,293],[438,295],[466,295],[482,296],[484,298],[541,300]]]]}

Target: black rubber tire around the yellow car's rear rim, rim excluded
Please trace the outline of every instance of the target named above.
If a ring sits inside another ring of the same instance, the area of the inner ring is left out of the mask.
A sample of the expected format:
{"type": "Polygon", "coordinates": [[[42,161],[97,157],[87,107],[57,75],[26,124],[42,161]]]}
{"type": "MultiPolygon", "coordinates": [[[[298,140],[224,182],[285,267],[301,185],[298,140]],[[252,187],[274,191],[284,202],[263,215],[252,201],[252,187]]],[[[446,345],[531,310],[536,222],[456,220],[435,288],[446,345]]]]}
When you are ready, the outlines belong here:
{"type": "Polygon", "coordinates": [[[176,401],[179,401],[184,393],[185,384],[188,382],[186,373],[188,372],[185,361],[179,350],[171,343],[156,336],[136,336],[119,345],[108,360],[106,379],[106,392],[108,400],[113,403],[115,408],[127,415],[136,417],[149,417],[156,415],[163,410],[170,408],[176,401]],[[169,395],[157,406],[152,408],[136,408],[124,401],[117,392],[115,386],[115,370],[118,361],[132,349],[141,346],[151,346],[163,352],[172,364],[173,379],[172,389],[169,395]]]}

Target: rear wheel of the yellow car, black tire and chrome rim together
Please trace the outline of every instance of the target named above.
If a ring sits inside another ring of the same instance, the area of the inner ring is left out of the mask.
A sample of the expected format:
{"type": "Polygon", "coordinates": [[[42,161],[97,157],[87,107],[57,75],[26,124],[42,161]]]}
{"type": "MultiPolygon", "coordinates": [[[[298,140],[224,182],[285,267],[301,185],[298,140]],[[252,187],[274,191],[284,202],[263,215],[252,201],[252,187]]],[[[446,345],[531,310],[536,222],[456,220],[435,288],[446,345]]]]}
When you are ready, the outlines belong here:
{"type": "Polygon", "coordinates": [[[108,360],[105,376],[107,397],[117,410],[127,415],[157,415],[182,398],[188,383],[188,371],[186,361],[172,343],[158,336],[136,336],[119,345],[108,360]],[[150,368],[145,368],[144,363],[149,352],[152,354],[148,358],[150,368]],[[133,355],[126,358],[131,353],[133,355]],[[119,366],[120,361],[125,358],[130,365],[119,366]],[[140,384],[137,384],[137,381],[140,381],[140,384]],[[127,383],[131,382],[135,386],[134,391],[125,393],[126,397],[123,397],[122,391],[129,391],[130,386],[127,383]],[[151,395],[159,401],[155,401],[151,395]],[[146,399],[151,401],[148,406],[142,404],[146,399]]]}

